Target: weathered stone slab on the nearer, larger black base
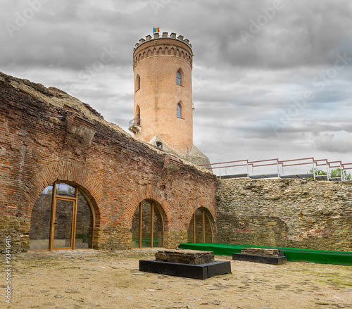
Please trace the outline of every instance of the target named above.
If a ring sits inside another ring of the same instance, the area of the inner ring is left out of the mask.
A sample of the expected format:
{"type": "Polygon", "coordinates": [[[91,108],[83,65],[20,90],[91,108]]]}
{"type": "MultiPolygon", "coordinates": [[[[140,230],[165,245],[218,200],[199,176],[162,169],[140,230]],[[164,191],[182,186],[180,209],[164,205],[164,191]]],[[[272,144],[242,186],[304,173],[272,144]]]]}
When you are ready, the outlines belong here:
{"type": "Polygon", "coordinates": [[[187,249],[159,250],[155,253],[156,260],[161,262],[200,265],[214,262],[212,251],[197,251],[187,249]]]}

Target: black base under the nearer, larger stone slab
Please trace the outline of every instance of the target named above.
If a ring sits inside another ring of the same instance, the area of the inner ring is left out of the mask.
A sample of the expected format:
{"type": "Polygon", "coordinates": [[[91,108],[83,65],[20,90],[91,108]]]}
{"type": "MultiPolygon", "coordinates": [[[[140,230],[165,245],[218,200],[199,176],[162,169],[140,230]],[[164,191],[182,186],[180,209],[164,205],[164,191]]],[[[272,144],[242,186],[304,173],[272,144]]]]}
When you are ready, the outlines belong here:
{"type": "Polygon", "coordinates": [[[213,276],[224,275],[231,272],[230,261],[218,260],[199,265],[161,262],[157,260],[139,260],[139,271],[153,272],[155,274],[207,279],[213,276]]]}

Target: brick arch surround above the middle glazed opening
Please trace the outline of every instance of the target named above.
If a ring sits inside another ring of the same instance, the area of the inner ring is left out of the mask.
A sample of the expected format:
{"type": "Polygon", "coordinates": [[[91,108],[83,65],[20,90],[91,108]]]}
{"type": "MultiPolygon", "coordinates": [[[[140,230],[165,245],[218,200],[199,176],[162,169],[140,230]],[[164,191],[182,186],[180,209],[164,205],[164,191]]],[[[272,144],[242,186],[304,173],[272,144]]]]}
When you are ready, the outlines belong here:
{"type": "Polygon", "coordinates": [[[143,189],[134,191],[134,193],[132,194],[130,202],[127,204],[127,207],[122,213],[122,217],[125,218],[127,227],[132,227],[134,211],[136,210],[139,203],[147,198],[157,201],[160,204],[162,208],[161,211],[165,216],[163,218],[165,230],[167,230],[168,225],[170,224],[170,220],[172,218],[170,204],[168,203],[168,201],[166,201],[166,198],[163,196],[163,194],[161,194],[161,191],[151,185],[144,186],[143,189]]]}

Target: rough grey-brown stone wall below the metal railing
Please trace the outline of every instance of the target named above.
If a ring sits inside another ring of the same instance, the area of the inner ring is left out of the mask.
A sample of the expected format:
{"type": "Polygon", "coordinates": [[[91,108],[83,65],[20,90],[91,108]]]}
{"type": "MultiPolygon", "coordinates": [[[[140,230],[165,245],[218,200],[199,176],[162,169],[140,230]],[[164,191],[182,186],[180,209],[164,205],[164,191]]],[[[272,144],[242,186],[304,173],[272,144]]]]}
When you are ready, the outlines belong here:
{"type": "Polygon", "coordinates": [[[352,182],[223,179],[215,241],[352,251],[352,182]]]}

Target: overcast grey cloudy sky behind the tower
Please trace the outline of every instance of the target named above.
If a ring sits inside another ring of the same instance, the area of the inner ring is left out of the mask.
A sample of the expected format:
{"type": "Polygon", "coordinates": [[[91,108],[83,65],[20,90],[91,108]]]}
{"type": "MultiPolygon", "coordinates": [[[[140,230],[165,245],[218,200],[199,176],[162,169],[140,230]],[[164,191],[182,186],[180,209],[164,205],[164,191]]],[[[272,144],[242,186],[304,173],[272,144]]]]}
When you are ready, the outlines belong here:
{"type": "Polygon", "coordinates": [[[194,144],[212,163],[352,162],[350,0],[1,0],[0,8],[1,72],[62,89],[127,132],[134,44],[160,27],[192,44],[194,144]]]}

